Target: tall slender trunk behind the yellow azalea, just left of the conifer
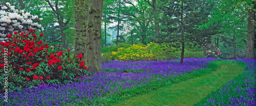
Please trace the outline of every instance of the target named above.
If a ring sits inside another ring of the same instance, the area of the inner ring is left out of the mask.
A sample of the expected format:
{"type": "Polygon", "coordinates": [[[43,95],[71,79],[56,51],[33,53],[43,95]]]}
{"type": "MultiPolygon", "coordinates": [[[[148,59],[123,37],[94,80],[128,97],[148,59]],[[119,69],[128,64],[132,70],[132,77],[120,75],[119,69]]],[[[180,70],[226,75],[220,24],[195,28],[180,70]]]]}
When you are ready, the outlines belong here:
{"type": "Polygon", "coordinates": [[[157,2],[156,0],[153,0],[153,12],[154,12],[154,18],[155,18],[155,37],[156,37],[156,42],[159,42],[159,31],[160,31],[160,28],[159,28],[159,21],[158,21],[158,14],[157,14],[157,2]]]}

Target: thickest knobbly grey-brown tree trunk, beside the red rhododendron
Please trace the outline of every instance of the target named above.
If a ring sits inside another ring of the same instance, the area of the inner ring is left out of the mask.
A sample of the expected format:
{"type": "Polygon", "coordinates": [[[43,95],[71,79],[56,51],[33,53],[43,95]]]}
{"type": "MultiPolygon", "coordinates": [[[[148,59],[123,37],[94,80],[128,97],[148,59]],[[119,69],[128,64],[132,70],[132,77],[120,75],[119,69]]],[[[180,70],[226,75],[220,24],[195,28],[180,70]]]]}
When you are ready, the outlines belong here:
{"type": "Polygon", "coordinates": [[[84,65],[93,72],[101,71],[100,40],[103,0],[89,0],[84,65]]]}

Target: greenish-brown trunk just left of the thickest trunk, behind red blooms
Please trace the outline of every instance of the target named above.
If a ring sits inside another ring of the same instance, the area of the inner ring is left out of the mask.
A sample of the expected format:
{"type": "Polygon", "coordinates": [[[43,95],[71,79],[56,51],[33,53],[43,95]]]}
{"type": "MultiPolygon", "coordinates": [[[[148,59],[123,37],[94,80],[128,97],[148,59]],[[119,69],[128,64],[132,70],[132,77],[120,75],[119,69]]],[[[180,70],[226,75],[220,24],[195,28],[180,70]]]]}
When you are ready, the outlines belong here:
{"type": "Polygon", "coordinates": [[[76,20],[76,39],[75,39],[75,55],[84,55],[85,36],[86,36],[86,18],[88,11],[88,4],[83,0],[75,1],[75,20],[76,20]]]}

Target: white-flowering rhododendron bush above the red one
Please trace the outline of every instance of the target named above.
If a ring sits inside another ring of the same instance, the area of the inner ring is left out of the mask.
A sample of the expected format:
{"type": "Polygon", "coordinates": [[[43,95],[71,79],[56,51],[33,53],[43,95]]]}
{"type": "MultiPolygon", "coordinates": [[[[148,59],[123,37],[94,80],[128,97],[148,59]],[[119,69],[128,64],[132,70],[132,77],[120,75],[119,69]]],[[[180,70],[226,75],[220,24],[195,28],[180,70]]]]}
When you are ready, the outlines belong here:
{"type": "Polygon", "coordinates": [[[10,3],[0,4],[0,42],[7,39],[7,35],[14,32],[28,33],[32,28],[41,28],[37,22],[42,20],[37,15],[31,15],[24,10],[17,10],[10,3]]]}

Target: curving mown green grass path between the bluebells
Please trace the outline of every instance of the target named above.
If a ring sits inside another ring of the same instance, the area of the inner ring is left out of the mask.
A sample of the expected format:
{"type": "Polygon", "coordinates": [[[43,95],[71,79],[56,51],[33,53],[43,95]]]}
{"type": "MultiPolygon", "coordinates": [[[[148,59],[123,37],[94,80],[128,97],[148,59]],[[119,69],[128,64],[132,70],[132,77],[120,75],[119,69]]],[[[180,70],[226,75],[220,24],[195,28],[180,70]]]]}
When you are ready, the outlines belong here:
{"type": "Polygon", "coordinates": [[[219,68],[215,72],[195,77],[180,84],[164,86],[112,105],[193,105],[244,72],[241,66],[231,60],[221,60],[216,63],[219,68]]]}

